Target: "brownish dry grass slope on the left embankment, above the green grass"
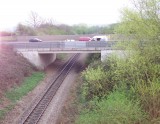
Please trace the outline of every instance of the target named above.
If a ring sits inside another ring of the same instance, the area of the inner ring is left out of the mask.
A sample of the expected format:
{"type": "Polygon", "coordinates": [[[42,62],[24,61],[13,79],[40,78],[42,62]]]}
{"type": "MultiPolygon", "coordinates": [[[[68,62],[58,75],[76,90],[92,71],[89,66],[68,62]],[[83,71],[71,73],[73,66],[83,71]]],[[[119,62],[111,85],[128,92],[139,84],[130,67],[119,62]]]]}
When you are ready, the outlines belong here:
{"type": "Polygon", "coordinates": [[[0,109],[9,102],[4,94],[20,85],[24,77],[33,72],[33,66],[25,58],[13,52],[9,46],[0,47],[0,109]]]}

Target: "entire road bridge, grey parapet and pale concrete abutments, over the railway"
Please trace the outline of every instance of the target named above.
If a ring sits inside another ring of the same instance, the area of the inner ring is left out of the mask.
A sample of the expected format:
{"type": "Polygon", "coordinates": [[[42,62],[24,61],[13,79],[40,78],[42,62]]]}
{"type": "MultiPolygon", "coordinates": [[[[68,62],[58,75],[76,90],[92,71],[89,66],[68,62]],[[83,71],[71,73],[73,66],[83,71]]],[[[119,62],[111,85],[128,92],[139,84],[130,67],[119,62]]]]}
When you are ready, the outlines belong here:
{"type": "MultiPolygon", "coordinates": [[[[107,54],[115,52],[116,42],[107,41],[62,41],[62,42],[5,42],[1,45],[10,45],[13,49],[27,58],[40,69],[44,69],[56,59],[56,53],[101,53],[101,60],[107,54]]],[[[119,51],[118,51],[119,52],[119,51]]]]}

